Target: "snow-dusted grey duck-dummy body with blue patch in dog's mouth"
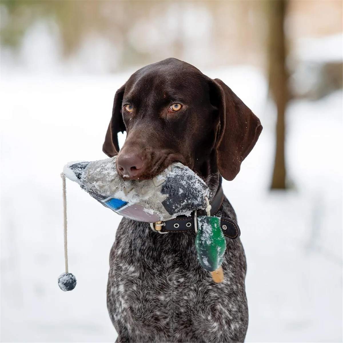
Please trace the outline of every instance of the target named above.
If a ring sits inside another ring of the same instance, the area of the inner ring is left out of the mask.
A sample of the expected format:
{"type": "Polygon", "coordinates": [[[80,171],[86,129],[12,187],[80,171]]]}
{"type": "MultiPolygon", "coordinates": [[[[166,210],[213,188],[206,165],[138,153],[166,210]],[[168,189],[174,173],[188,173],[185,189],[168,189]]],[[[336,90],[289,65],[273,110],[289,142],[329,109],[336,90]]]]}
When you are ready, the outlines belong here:
{"type": "Polygon", "coordinates": [[[118,175],[116,158],[71,162],[63,174],[111,210],[141,222],[165,221],[206,208],[209,188],[183,164],[171,164],[151,180],[125,180],[118,175]]]}

